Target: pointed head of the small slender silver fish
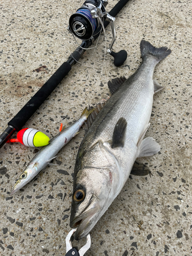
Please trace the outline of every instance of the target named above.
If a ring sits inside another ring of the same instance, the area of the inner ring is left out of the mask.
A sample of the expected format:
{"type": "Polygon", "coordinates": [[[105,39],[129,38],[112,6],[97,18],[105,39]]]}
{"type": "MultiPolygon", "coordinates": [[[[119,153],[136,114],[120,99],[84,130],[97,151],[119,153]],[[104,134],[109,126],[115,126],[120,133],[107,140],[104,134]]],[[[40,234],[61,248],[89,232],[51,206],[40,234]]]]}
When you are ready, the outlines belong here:
{"type": "Polygon", "coordinates": [[[11,192],[11,196],[15,194],[19,189],[21,189],[23,186],[25,186],[29,181],[31,181],[34,178],[35,174],[35,164],[30,164],[24,172],[20,175],[19,179],[17,180],[16,184],[14,185],[14,188],[11,192]]]}

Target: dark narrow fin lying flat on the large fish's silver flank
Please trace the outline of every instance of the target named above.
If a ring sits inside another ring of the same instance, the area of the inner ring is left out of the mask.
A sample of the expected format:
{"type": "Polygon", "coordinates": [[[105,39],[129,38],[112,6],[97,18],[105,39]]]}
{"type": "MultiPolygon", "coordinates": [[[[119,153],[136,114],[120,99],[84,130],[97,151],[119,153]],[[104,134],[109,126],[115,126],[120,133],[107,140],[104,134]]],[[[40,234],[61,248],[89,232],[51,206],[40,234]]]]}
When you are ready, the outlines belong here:
{"type": "Polygon", "coordinates": [[[126,119],[124,117],[119,118],[115,125],[115,129],[113,132],[113,139],[112,139],[112,148],[114,147],[123,147],[124,140],[125,140],[125,133],[126,133],[126,119]]]}

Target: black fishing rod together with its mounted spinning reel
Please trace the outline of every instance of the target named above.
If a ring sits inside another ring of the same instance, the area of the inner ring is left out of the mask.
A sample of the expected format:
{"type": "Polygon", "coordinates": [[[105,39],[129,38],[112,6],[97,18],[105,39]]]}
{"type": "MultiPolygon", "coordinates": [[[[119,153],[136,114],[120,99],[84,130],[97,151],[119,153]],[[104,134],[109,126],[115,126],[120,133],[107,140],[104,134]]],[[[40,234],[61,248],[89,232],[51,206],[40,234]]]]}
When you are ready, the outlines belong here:
{"type": "Polygon", "coordinates": [[[23,106],[23,108],[8,122],[8,127],[0,135],[0,148],[16,132],[22,129],[24,124],[35,113],[39,106],[54,91],[63,78],[70,72],[75,63],[78,62],[83,53],[89,49],[100,35],[101,31],[111,24],[113,38],[108,53],[114,57],[114,65],[119,67],[126,60],[127,53],[121,50],[118,53],[112,51],[115,42],[115,16],[126,5],[129,0],[120,0],[113,9],[107,13],[105,7],[108,0],[87,0],[72,14],[69,19],[68,30],[74,36],[82,39],[81,45],[69,56],[68,60],[48,79],[48,81],[35,93],[35,95],[23,106]]]}

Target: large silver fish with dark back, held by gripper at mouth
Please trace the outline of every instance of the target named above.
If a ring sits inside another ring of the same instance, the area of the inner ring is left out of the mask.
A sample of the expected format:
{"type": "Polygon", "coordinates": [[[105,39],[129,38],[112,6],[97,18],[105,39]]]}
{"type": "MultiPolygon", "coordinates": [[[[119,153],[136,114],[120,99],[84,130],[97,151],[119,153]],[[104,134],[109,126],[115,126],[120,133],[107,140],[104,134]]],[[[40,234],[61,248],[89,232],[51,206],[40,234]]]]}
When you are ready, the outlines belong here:
{"type": "MultiPolygon", "coordinates": [[[[137,160],[153,156],[160,145],[144,139],[150,126],[153,96],[163,87],[153,79],[157,63],[171,50],[140,42],[142,62],[128,79],[108,82],[112,96],[106,101],[84,136],[77,153],[70,227],[76,240],[86,237],[120,193],[130,174],[150,170],[137,160]]],[[[89,120],[89,118],[88,118],[89,120]]]]}

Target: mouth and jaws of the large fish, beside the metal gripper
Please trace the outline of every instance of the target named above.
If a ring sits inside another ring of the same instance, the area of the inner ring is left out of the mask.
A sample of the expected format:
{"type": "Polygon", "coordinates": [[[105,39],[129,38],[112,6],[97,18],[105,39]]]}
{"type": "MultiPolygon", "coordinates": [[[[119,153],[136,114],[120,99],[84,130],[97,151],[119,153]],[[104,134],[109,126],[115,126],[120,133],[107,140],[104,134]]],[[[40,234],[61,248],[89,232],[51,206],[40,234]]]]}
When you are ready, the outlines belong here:
{"type": "MultiPolygon", "coordinates": [[[[94,200],[90,201],[93,202],[94,200]]],[[[94,208],[91,208],[89,210],[87,210],[87,208],[88,207],[86,207],[86,209],[84,209],[79,216],[77,216],[74,220],[70,222],[70,227],[77,227],[77,230],[74,233],[75,240],[80,240],[86,237],[99,220],[97,216],[100,207],[98,205],[95,205],[94,208]]]]}

